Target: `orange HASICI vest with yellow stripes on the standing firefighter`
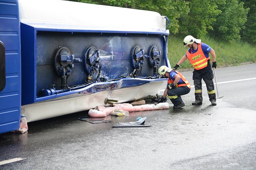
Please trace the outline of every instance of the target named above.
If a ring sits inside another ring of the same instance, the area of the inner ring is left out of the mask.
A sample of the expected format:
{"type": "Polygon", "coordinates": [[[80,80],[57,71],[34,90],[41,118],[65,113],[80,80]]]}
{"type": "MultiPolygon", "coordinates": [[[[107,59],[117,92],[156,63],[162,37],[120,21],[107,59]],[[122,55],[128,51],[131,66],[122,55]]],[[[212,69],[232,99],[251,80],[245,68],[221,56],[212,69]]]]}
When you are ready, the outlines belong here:
{"type": "Polygon", "coordinates": [[[208,58],[205,57],[201,44],[202,43],[198,44],[196,53],[191,54],[187,51],[187,58],[196,70],[200,70],[206,67],[207,60],[210,59],[210,57],[208,58]]]}

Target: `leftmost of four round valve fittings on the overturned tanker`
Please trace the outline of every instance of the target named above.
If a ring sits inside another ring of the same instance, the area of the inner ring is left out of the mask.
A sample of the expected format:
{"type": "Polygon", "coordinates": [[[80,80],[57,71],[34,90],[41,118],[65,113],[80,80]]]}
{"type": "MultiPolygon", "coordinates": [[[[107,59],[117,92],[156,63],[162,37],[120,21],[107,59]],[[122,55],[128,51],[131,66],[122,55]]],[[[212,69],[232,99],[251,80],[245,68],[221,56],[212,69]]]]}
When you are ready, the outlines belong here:
{"type": "Polygon", "coordinates": [[[80,58],[75,58],[67,47],[60,47],[54,56],[54,68],[58,76],[61,77],[61,89],[67,87],[66,76],[70,75],[74,63],[82,62],[80,58]]]}

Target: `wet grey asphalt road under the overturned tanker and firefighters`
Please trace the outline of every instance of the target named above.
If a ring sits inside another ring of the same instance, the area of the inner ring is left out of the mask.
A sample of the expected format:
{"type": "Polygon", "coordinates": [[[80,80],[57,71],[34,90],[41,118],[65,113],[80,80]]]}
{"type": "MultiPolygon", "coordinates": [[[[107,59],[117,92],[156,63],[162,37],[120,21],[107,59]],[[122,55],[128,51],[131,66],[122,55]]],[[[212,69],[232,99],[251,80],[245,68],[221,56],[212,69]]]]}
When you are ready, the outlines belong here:
{"type": "MultiPolygon", "coordinates": [[[[183,75],[193,85],[192,72],[183,75]]],[[[109,116],[112,122],[102,124],[77,120],[84,111],[28,123],[25,134],[2,134],[0,164],[22,160],[0,169],[256,169],[256,64],[219,68],[216,77],[224,95],[217,106],[203,86],[202,106],[191,105],[192,88],[180,110],[170,103],[169,110],[109,116]],[[137,117],[152,127],[111,127],[137,117]]]]}

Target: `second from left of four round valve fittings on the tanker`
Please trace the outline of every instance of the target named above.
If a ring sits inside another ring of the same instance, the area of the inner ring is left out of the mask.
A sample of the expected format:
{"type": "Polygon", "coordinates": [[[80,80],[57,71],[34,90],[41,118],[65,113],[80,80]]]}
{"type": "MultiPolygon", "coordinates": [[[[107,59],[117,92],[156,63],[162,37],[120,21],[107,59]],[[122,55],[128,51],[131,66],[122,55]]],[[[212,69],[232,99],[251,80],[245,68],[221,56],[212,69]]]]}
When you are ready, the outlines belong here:
{"type": "Polygon", "coordinates": [[[87,80],[91,81],[92,74],[98,72],[96,80],[100,76],[100,51],[96,50],[94,46],[86,48],[84,52],[84,67],[87,73],[87,80]]]}

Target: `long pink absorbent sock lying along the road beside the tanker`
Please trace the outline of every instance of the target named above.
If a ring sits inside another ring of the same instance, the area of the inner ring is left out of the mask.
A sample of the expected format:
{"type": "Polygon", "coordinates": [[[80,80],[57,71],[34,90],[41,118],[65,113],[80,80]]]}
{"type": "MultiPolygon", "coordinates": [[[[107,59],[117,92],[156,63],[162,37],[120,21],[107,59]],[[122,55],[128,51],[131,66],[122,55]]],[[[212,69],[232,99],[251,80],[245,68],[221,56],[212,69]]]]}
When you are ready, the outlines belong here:
{"type": "Polygon", "coordinates": [[[90,117],[106,117],[111,114],[114,110],[124,110],[128,112],[133,111],[145,111],[145,110],[160,110],[160,109],[169,109],[169,103],[158,103],[155,104],[143,104],[140,106],[132,106],[129,103],[120,103],[116,104],[114,107],[104,107],[98,106],[98,110],[91,109],[89,110],[90,117]]]}

